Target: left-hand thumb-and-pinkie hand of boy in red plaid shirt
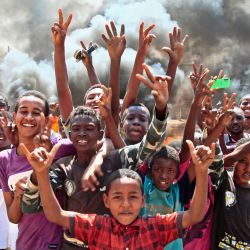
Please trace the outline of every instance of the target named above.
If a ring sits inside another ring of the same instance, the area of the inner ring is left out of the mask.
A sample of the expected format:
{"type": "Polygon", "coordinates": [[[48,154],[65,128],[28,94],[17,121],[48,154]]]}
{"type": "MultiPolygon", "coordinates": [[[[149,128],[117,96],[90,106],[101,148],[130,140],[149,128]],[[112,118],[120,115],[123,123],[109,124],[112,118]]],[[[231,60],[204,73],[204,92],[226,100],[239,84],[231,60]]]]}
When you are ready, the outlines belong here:
{"type": "Polygon", "coordinates": [[[44,147],[35,148],[33,152],[30,152],[23,143],[20,143],[21,151],[26,156],[33,170],[37,173],[43,172],[51,166],[60,146],[61,144],[59,143],[55,144],[50,152],[44,147]]]}

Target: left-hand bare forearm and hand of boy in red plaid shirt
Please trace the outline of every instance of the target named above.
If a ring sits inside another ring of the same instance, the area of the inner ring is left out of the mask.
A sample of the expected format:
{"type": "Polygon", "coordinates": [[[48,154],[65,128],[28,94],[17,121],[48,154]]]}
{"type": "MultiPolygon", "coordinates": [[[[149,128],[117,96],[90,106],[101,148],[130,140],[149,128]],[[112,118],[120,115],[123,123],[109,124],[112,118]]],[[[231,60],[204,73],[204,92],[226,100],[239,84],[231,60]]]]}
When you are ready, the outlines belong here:
{"type": "Polygon", "coordinates": [[[50,185],[48,169],[58,151],[60,144],[56,144],[50,153],[45,148],[36,148],[33,152],[29,152],[24,144],[20,144],[20,148],[27,160],[36,172],[39,192],[43,204],[43,211],[46,218],[53,223],[62,226],[64,229],[69,229],[70,213],[62,210],[54,192],[50,185]]]}

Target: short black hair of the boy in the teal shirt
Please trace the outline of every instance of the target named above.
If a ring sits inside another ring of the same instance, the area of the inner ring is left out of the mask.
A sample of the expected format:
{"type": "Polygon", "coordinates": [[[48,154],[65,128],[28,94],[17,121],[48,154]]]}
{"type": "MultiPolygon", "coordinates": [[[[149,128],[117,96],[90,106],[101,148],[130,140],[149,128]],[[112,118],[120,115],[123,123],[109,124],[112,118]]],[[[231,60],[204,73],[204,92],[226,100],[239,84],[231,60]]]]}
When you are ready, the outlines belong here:
{"type": "Polygon", "coordinates": [[[148,161],[148,167],[149,171],[152,171],[152,166],[154,164],[154,161],[159,158],[164,158],[164,159],[172,159],[177,163],[177,177],[179,176],[179,165],[180,165],[180,157],[179,153],[176,151],[175,148],[170,147],[170,146],[163,146],[158,152],[154,153],[148,161]]]}

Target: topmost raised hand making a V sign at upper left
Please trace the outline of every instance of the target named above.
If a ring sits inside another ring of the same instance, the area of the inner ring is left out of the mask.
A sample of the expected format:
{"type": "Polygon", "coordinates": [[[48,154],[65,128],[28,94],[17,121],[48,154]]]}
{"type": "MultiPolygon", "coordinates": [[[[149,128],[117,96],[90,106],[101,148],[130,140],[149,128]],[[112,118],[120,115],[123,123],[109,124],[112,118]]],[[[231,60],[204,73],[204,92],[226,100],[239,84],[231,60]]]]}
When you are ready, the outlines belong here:
{"type": "Polygon", "coordinates": [[[71,20],[72,20],[72,14],[70,14],[66,22],[64,22],[62,10],[61,9],[58,10],[58,23],[54,23],[54,25],[51,28],[52,41],[55,46],[64,46],[66,33],[71,23],[71,20]]]}

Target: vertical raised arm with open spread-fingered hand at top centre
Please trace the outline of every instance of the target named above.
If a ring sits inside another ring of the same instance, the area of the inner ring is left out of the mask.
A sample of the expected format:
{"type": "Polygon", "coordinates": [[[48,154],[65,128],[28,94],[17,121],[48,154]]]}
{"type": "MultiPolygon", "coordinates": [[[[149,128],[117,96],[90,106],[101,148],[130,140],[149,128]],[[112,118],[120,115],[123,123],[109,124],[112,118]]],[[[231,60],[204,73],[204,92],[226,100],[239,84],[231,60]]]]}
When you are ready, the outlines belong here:
{"type": "Polygon", "coordinates": [[[112,102],[111,112],[114,118],[116,127],[119,124],[119,111],[120,111],[120,64],[121,56],[126,48],[125,39],[125,26],[121,25],[120,35],[117,34],[117,30],[113,21],[105,25],[108,38],[102,34],[102,38],[106,44],[109,57],[110,57],[110,73],[109,73],[109,86],[112,89],[112,102]],[[111,27],[111,28],[110,28],[111,27]],[[111,31],[112,30],[112,31],[111,31]]]}

